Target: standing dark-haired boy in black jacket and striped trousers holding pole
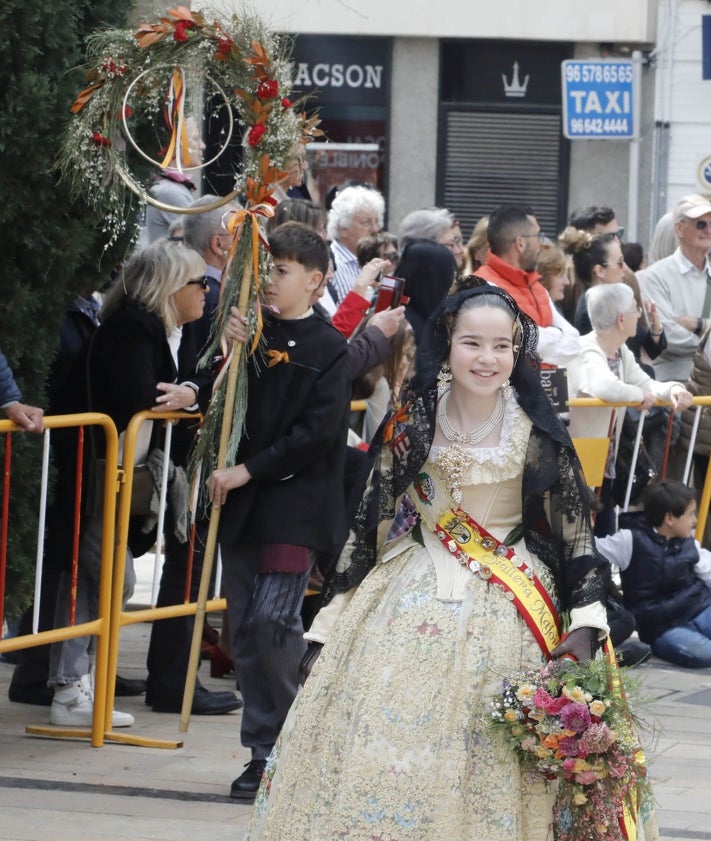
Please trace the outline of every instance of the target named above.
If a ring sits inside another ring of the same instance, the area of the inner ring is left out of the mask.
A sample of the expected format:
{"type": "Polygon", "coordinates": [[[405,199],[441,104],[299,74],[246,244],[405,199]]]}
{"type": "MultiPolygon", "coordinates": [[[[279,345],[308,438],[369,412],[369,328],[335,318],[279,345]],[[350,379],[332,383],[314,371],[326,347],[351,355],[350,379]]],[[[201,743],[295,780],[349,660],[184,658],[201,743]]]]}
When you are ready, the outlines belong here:
{"type": "Polygon", "coordinates": [[[220,551],[230,643],[252,760],[231,795],[254,798],[298,688],[309,570],[342,534],[350,380],[346,341],[311,308],[328,269],[321,237],[298,222],[270,236],[265,350],[248,368],[245,433],[234,467],[208,480],[223,506],[220,551]]]}

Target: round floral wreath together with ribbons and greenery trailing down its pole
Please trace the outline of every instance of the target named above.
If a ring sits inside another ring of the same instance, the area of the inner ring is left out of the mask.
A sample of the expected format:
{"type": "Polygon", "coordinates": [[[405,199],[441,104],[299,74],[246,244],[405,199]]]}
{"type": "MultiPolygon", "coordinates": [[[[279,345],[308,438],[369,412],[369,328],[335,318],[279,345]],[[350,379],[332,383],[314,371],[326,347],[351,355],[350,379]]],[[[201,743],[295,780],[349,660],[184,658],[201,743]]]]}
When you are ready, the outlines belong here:
{"type": "MultiPolygon", "coordinates": [[[[144,23],[136,32],[100,31],[88,42],[89,84],[72,105],[74,117],[63,139],[59,167],[72,194],[83,197],[102,218],[107,247],[135,218],[136,197],[141,205],[172,213],[205,212],[237,196],[244,206],[224,217],[233,243],[203,364],[213,358],[230,307],[238,302],[254,314],[249,350],[256,349],[261,320],[254,304],[260,278],[266,280],[269,268],[260,219],[273,215],[274,190],[286,177],[284,161],[297,144],[321,134],[319,121],[299,112],[301,103],[289,99],[288,47],[254,15],[208,24],[203,13],[184,6],[169,9],[158,23],[144,23]],[[188,134],[191,109],[200,112],[204,102],[209,103],[205,119],[222,109],[226,116],[227,128],[211,160],[233,140],[235,114],[243,124],[242,162],[234,171],[234,189],[212,206],[166,205],[151,195],[151,178],[161,168],[183,173],[200,168],[190,162],[188,134]]],[[[241,375],[245,352],[238,363],[234,407],[226,409],[227,378],[221,376],[205,419],[196,457],[203,476],[217,463],[225,409],[233,415],[227,464],[234,464],[246,410],[246,377],[241,375]]]]}

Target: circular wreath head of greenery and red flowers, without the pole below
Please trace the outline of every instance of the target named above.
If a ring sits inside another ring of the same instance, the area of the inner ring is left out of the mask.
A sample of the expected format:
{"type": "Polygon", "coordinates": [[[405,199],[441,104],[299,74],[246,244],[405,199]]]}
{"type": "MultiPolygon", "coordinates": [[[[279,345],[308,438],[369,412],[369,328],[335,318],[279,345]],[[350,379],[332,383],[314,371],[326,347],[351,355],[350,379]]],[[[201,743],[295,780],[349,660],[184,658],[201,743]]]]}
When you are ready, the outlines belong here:
{"type": "Polygon", "coordinates": [[[209,102],[207,117],[223,110],[229,123],[218,153],[201,166],[230,144],[233,111],[246,127],[234,191],[222,203],[238,194],[261,202],[284,178],[281,166],[295,144],[320,134],[318,121],[289,99],[288,43],[254,15],[208,24],[202,13],[178,6],[135,33],[94,33],[88,53],[89,84],[72,105],[59,166],[72,194],[103,218],[109,243],[135,217],[134,195],[169,212],[190,212],[156,201],[149,190],[159,167],[200,168],[188,160],[189,80],[196,108],[209,102]],[[265,183],[265,175],[273,180],[265,183]]]}

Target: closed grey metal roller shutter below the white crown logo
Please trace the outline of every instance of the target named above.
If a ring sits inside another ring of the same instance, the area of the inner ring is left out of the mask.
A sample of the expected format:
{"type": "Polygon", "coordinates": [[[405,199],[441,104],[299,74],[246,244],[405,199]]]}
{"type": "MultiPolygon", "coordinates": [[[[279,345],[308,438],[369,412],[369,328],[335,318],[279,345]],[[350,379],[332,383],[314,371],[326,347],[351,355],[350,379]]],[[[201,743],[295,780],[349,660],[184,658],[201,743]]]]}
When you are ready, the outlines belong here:
{"type": "Polygon", "coordinates": [[[530,205],[554,238],[561,204],[559,114],[447,109],[443,202],[466,242],[475,223],[500,204],[530,205]]]}

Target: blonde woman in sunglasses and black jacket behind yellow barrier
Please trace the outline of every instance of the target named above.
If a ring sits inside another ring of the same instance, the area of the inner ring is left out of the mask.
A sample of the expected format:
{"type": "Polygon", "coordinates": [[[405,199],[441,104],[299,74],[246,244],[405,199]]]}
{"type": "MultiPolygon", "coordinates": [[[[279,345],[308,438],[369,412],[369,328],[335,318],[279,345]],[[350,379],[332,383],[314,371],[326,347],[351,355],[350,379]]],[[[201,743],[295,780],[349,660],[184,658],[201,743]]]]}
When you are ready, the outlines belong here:
{"type": "MultiPolygon", "coordinates": [[[[197,409],[197,386],[178,382],[182,325],[202,315],[205,306],[205,263],[192,249],[167,239],[156,240],[134,254],[107,292],[101,309],[102,323],[89,348],[87,409],[111,417],[121,434],[133,415],[154,411],[197,409]]],[[[194,351],[187,371],[192,372],[194,351]]],[[[145,461],[151,427],[144,423],[136,442],[136,463],[145,461]]],[[[98,436],[95,455],[103,457],[98,436]]],[[[121,454],[119,454],[119,459],[121,454]]],[[[86,515],[82,520],[75,622],[96,616],[101,575],[103,518],[86,515]]],[[[124,603],[130,598],[136,576],[131,551],[126,552],[124,603]]],[[[57,594],[57,627],[69,624],[71,572],[62,572],[57,594]]],[[[94,697],[90,675],[90,637],[65,640],[52,646],[50,686],[54,700],[50,722],[62,726],[91,726],[94,697]]],[[[114,711],[113,727],[128,727],[133,716],[114,711]]]]}

